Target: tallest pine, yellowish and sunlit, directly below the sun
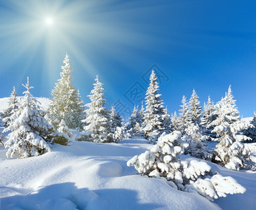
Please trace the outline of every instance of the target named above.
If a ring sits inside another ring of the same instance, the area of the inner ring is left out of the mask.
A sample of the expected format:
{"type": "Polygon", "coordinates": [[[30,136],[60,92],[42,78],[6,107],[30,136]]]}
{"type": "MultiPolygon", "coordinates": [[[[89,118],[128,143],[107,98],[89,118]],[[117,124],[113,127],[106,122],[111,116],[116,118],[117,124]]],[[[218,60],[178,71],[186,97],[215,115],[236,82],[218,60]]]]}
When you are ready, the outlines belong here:
{"type": "Polygon", "coordinates": [[[84,107],[79,91],[74,87],[72,67],[67,54],[63,63],[65,65],[61,66],[60,79],[52,91],[53,99],[48,108],[47,118],[56,129],[59,128],[61,120],[65,120],[67,127],[76,129],[82,127],[84,107]]]}

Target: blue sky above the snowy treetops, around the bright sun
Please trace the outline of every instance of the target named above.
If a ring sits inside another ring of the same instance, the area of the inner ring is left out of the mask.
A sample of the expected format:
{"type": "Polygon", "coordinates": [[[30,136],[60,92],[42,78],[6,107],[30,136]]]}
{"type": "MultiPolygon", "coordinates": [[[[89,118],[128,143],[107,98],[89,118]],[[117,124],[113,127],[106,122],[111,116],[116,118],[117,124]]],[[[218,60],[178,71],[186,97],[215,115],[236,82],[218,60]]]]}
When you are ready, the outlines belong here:
{"type": "MultiPolygon", "coordinates": [[[[29,76],[51,97],[69,54],[84,102],[95,75],[107,103],[140,104],[151,66],[170,113],[195,89],[201,105],[231,84],[243,117],[255,111],[256,1],[0,1],[0,97],[29,76]],[[46,18],[53,24],[47,25],[46,18]],[[135,94],[137,93],[137,94],[135,94]]],[[[122,105],[122,109],[120,108],[122,105]]]]}

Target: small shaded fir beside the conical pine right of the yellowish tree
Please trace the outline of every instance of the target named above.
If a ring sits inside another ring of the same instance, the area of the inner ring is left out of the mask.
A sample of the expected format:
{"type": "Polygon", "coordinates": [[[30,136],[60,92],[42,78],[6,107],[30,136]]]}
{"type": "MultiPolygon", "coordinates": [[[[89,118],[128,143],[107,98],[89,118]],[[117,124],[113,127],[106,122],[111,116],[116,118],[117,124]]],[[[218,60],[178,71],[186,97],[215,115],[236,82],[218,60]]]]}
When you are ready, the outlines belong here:
{"type": "Polygon", "coordinates": [[[111,106],[110,109],[110,123],[111,123],[111,132],[112,139],[114,142],[119,142],[124,138],[124,128],[123,128],[123,120],[118,111],[111,106]]]}

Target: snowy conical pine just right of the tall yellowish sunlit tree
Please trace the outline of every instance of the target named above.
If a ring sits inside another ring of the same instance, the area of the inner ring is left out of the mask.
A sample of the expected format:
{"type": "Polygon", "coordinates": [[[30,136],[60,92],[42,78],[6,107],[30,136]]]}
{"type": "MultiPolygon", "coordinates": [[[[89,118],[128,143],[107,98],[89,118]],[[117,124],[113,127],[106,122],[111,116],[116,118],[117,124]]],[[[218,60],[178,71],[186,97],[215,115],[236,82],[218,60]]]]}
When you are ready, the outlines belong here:
{"type": "Polygon", "coordinates": [[[109,111],[105,108],[106,99],[104,95],[104,88],[100,83],[98,76],[95,78],[91,90],[90,103],[86,104],[86,119],[82,120],[86,123],[83,128],[84,132],[81,133],[81,141],[93,141],[95,143],[112,142],[111,123],[109,111]]]}

